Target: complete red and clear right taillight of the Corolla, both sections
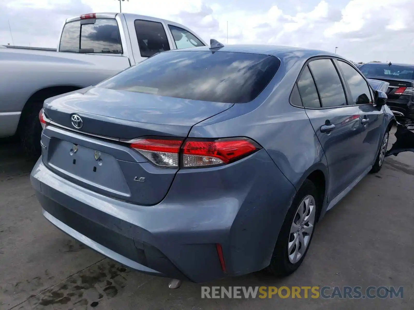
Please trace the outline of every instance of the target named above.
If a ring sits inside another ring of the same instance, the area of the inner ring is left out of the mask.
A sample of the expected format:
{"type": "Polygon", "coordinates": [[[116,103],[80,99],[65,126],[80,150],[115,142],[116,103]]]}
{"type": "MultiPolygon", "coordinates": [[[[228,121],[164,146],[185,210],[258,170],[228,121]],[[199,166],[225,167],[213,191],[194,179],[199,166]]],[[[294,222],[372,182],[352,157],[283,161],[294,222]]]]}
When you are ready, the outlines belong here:
{"type": "Polygon", "coordinates": [[[260,150],[249,138],[168,139],[140,138],[130,147],[164,168],[199,168],[226,165],[260,150]],[[181,156],[180,156],[181,155],[181,156]]]}

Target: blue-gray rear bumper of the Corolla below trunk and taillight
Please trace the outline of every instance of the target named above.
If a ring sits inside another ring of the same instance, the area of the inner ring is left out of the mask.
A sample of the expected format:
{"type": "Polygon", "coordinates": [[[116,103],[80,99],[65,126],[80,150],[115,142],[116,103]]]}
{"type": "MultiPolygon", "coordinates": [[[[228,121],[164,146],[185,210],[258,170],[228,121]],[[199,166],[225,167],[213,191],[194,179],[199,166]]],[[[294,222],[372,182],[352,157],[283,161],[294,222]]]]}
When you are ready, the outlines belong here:
{"type": "Polygon", "coordinates": [[[166,198],[154,206],[82,188],[40,159],[31,183],[46,219],[73,238],[138,271],[195,282],[269,265],[295,193],[265,150],[226,167],[178,172],[166,198]],[[243,171],[244,179],[236,170],[243,171]],[[235,184],[226,184],[227,178],[236,179],[235,184]]]}

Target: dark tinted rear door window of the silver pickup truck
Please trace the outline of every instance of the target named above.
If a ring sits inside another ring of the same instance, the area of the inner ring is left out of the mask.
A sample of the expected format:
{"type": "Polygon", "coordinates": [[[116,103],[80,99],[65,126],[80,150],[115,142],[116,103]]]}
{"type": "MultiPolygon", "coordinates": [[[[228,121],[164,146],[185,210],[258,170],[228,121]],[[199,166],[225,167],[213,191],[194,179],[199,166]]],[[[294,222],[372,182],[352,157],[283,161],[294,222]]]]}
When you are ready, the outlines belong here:
{"type": "Polygon", "coordinates": [[[164,50],[170,50],[168,38],[161,23],[137,19],[135,31],[142,57],[151,57],[164,50]]]}

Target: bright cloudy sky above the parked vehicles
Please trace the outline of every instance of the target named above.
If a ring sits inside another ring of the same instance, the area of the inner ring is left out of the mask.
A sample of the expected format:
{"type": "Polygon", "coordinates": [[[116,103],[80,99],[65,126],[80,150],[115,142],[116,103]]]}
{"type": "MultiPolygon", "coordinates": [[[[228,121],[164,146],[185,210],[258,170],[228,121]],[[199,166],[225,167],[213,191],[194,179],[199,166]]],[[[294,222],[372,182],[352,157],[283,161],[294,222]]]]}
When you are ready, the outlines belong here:
{"type": "MultiPolygon", "coordinates": [[[[129,0],[123,12],[177,21],[205,41],[335,51],[354,62],[414,63],[413,0],[129,0]]],[[[118,0],[0,0],[0,44],[52,47],[67,17],[118,0]],[[12,31],[12,36],[9,29],[12,31]]]]}

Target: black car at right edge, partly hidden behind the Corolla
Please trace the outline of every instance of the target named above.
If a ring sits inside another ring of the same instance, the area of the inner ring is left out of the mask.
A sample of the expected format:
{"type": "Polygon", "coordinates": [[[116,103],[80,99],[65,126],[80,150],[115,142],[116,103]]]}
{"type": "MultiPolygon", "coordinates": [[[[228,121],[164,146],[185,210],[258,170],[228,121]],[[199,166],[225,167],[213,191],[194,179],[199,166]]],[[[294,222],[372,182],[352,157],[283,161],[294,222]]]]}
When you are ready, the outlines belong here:
{"type": "Polygon", "coordinates": [[[369,63],[359,67],[369,79],[390,83],[387,105],[397,118],[414,122],[414,65],[369,63]]]}

